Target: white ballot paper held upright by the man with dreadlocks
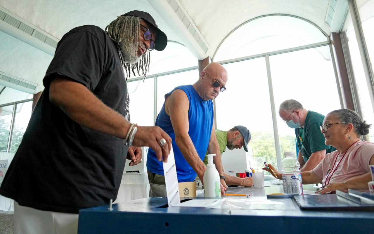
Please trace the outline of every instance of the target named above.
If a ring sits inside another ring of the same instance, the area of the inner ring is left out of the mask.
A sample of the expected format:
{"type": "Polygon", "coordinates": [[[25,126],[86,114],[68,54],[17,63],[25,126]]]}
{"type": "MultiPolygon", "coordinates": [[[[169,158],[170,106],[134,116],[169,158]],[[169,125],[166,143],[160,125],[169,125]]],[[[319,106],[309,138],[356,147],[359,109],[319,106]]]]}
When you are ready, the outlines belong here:
{"type": "Polygon", "coordinates": [[[168,205],[178,206],[181,203],[181,199],[179,197],[177,168],[175,167],[173,147],[171,147],[170,154],[168,157],[168,162],[162,161],[162,165],[163,165],[164,175],[165,175],[168,205]]]}

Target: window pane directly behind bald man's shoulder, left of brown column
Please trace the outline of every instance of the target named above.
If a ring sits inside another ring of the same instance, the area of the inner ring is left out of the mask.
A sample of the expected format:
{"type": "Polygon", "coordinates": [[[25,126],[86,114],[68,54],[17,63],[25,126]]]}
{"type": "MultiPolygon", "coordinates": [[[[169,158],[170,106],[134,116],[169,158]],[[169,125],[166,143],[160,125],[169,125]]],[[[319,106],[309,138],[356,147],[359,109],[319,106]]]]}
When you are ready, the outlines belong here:
{"type": "Polygon", "coordinates": [[[165,102],[165,94],[180,85],[194,84],[199,79],[199,70],[179,72],[157,77],[157,114],[165,102]]]}

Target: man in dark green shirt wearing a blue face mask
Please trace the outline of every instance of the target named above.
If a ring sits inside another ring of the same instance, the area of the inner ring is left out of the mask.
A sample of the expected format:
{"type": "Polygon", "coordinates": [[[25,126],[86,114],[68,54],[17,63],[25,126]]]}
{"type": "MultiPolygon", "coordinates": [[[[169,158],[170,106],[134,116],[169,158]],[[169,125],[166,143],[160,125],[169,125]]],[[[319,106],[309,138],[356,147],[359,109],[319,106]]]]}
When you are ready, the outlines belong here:
{"type": "Polygon", "coordinates": [[[325,137],[319,126],[322,126],[325,116],[306,110],[300,102],[290,99],[279,106],[279,116],[288,127],[295,129],[299,153],[297,160],[301,171],[312,171],[327,153],[336,149],[325,145],[325,137]]]}

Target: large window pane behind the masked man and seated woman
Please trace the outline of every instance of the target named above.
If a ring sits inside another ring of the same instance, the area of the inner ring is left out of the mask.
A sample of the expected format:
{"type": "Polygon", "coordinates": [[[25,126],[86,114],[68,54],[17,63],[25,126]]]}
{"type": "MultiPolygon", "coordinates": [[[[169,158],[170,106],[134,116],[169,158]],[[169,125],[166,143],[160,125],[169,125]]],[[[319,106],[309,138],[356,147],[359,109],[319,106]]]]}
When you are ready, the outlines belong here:
{"type": "MultiPolygon", "coordinates": [[[[324,48],[329,50],[328,46],[324,48]]],[[[275,108],[281,154],[296,151],[295,131],[279,117],[279,105],[288,99],[300,102],[306,110],[322,115],[341,109],[331,60],[316,49],[270,56],[275,108]]]]}

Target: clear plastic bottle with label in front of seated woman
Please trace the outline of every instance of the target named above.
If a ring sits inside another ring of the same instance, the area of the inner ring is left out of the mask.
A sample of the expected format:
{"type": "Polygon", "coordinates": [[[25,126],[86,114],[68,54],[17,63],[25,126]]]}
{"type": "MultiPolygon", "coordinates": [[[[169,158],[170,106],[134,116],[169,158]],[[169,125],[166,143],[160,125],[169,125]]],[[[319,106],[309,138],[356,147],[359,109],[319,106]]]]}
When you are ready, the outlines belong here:
{"type": "Polygon", "coordinates": [[[284,152],[282,160],[282,179],[284,193],[303,193],[303,183],[300,174],[300,163],[295,152],[284,152]]]}

